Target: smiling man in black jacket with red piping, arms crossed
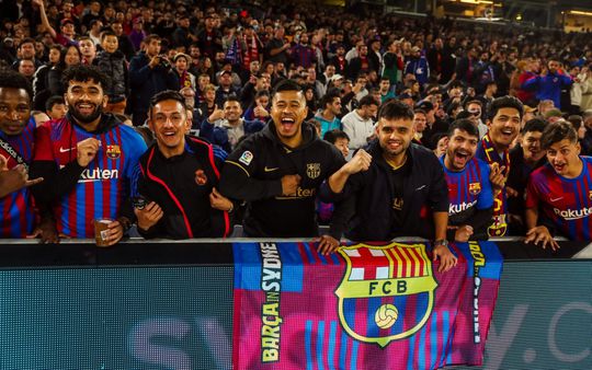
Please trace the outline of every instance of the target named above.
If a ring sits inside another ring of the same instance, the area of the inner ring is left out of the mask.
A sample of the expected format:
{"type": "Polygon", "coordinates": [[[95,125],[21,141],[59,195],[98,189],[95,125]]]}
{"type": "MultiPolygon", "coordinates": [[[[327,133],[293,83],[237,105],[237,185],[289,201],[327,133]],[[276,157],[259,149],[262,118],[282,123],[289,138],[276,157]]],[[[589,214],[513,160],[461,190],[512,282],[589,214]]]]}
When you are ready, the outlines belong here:
{"type": "MultiPolygon", "coordinates": [[[[237,102],[238,104],[238,102],[237,102]]],[[[175,91],[152,97],[148,126],[156,137],[134,182],[135,213],[144,238],[219,238],[231,232],[232,203],[216,186],[221,159],[210,143],[189,137],[187,107],[175,91]]]]}

